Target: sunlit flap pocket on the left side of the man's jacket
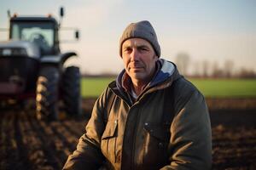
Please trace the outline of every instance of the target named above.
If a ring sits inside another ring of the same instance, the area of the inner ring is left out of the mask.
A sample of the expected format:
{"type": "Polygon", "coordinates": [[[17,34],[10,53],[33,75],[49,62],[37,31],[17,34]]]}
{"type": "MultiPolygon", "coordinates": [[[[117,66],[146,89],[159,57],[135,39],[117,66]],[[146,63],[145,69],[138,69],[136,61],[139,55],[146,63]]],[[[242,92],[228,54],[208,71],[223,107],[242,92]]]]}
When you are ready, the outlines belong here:
{"type": "Polygon", "coordinates": [[[116,139],[118,121],[108,121],[105,131],[102,133],[102,153],[108,161],[116,161],[116,139]]]}

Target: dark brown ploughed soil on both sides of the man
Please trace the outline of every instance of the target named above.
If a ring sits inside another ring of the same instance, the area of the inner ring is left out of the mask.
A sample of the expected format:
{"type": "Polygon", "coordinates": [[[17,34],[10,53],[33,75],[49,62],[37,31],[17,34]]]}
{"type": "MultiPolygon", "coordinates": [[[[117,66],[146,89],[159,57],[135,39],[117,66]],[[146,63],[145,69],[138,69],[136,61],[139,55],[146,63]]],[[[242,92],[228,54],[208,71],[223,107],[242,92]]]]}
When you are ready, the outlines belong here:
{"type": "MultiPolygon", "coordinates": [[[[84,114],[40,122],[33,109],[1,110],[0,169],[61,169],[76,148],[95,99],[84,100],[84,114]]],[[[212,169],[256,169],[256,109],[210,108],[212,169]]]]}

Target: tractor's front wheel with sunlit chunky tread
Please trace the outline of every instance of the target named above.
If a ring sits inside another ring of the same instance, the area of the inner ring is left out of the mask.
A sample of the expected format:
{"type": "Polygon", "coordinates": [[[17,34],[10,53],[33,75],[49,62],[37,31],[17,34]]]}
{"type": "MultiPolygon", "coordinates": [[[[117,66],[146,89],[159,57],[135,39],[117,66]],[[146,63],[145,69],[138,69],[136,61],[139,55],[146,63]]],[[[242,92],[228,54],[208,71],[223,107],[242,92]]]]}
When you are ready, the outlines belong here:
{"type": "Polygon", "coordinates": [[[45,66],[39,72],[36,97],[39,120],[57,120],[59,78],[59,71],[54,66],[45,66]]]}

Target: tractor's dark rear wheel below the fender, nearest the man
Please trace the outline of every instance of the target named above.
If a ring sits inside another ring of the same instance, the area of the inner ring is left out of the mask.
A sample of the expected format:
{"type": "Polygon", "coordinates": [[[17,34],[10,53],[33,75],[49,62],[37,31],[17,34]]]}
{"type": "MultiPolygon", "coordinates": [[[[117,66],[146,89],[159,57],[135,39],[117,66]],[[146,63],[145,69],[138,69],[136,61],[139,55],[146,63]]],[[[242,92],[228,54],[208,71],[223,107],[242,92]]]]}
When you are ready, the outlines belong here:
{"type": "Polygon", "coordinates": [[[69,66],[63,73],[61,89],[64,109],[70,116],[81,114],[80,94],[80,71],[79,67],[69,66]]]}

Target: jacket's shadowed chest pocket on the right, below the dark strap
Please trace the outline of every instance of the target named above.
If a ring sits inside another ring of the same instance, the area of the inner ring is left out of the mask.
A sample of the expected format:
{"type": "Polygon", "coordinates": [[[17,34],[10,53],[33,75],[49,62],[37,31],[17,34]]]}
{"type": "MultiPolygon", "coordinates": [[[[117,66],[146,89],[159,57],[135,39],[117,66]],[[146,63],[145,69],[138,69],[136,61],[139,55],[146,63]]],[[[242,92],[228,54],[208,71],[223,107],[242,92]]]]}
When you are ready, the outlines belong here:
{"type": "Polygon", "coordinates": [[[168,144],[170,131],[164,123],[144,124],[145,140],[143,163],[148,165],[164,165],[168,162],[168,144]]]}

